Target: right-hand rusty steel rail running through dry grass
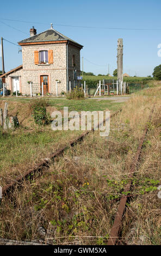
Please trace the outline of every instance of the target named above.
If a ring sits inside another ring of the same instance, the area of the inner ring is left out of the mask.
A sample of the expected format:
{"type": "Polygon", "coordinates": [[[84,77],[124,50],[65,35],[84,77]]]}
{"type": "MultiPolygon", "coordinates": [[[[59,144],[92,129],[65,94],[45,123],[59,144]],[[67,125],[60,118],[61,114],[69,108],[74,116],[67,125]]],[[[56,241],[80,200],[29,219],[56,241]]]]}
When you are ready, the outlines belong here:
{"type": "MultiPolygon", "coordinates": [[[[150,113],[148,121],[151,120],[153,112],[154,112],[154,107],[152,108],[152,111],[150,113]]],[[[139,162],[141,149],[143,147],[143,143],[144,143],[144,139],[145,139],[147,130],[148,130],[148,126],[146,124],[143,136],[140,139],[140,143],[139,143],[137,153],[135,154],[134,160],[131,164],[131,169],[129,171],[128,178],[131,179],[131,180],[126,185],[125,190],[123,191],[123,193],[128,192],[131,188],[133,174],[134,174],[135,169],[137,168],[137,164],[139,162]]],[[[123,196],[121,197],[120,204],[119,204],[119,207],[117,209],[116,216],[114,218],[114,223],[113,223],[112,229],[110,231],[110,236],[109,236],[107,245],[116,245],[116,242],[119,239],[119,234],[120,234],[121,227],[122,227],[122,218],[123,218],[123,214],[125,213],[125,210],[126,210],[127,198],[128,198],[128,196],[126,196],[125,194],[123,194],[123,196]]]]}

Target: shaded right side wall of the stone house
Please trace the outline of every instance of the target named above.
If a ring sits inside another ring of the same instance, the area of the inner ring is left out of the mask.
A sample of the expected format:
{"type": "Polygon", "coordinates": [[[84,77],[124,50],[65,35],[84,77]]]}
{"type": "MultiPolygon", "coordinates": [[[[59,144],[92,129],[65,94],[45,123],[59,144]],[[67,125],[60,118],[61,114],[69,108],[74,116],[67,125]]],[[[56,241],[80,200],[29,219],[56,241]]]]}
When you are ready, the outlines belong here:
{"type": "Polygon", "coordinates": [[[74,76],[73,70],[77,70],[77,76],[80,76],[80,49],[71,44],[68,45],[68,75],[70,76],[71,89],[74,87],[74,76]],[[73,55],[75,56],[75,66],[72,64],[73,55]]]}

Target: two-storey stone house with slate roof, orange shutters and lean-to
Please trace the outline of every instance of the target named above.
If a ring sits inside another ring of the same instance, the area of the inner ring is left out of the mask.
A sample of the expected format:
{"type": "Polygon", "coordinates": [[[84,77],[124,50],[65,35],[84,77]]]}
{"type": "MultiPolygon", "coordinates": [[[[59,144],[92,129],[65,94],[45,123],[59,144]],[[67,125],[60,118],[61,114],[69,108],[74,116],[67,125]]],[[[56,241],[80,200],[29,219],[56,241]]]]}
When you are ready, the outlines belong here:
{"type": "Polygon", "coordinates": [[[22,65],[1,75],[5,78],[7,89],[17,90],[22,95],[30,94],[29,82],[32,82],[33,95],[42,92],[44,95],[58,94],[69,91],[78,83],[80,76],[80,50],[82,45],[55,31],[52,27],[47,31],[36,34],[36,29],[30,29],[30,38],[18,44],[22,47],[22,65]]]}

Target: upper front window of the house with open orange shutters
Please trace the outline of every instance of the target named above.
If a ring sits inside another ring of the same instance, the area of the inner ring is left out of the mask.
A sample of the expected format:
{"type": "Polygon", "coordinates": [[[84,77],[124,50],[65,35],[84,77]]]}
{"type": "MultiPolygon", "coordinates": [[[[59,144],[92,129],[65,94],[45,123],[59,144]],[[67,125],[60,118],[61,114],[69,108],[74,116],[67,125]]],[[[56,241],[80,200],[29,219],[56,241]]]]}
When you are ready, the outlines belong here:
{"type": "Polygon", "coordinates": [[[35,65],[53,64],[53,50],[34,51],[35,65]]]}

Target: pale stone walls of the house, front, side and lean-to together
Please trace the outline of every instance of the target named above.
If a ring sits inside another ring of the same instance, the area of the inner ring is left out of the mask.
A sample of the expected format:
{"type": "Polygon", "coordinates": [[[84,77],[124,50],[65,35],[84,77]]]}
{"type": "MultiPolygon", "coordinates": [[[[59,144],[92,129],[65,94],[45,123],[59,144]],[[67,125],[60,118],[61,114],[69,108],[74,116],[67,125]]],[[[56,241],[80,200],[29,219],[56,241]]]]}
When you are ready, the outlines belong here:
{"type": "MultiPolygon", "coordinates": [[[[11,78],[21,77],[21,92],[23,95],[30,95],[28,81],[32,81],[33,94],[40,92],[40,76],[48,76],[49,93],[56,94],[56,80],[58,83],[58,94],[67,90],[67,58],[66,44],[46,44],[46,45],[25,45],[22,46],[23,69],[15,71],[6,77],[7,88],[10,89],[11,78]],[[53,64],[35,64],[34,51],[53,50],[53,64]]],[[[68,44],[68,69],[71,80],[71,88],[74,87],[73,70],[77,70],[80,75],[80,49],[68,44]],[[72,65],[72,57],[75,55],[75,64],[72,65]]],[[[13,87],[12,87],[13,88],[13,87]]]]}

